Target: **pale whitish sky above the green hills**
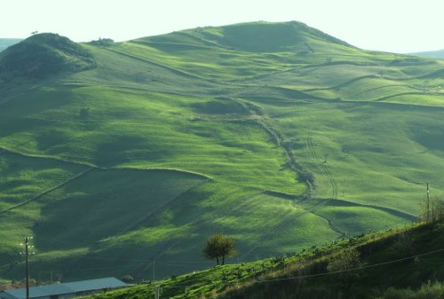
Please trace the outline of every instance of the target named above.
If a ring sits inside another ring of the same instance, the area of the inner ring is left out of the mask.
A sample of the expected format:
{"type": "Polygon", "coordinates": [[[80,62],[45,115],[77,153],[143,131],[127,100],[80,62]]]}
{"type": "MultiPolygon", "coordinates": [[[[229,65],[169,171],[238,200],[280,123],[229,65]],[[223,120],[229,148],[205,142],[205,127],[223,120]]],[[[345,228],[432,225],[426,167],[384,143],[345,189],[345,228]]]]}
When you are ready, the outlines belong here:
{"type": "Polygon", "coordinates": [[[443,0],[0,0],[1,38],[120,42],[256,20],[302,21],[367,50],[444,49],[443,0]]]}

